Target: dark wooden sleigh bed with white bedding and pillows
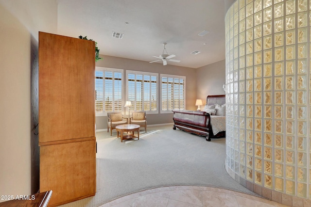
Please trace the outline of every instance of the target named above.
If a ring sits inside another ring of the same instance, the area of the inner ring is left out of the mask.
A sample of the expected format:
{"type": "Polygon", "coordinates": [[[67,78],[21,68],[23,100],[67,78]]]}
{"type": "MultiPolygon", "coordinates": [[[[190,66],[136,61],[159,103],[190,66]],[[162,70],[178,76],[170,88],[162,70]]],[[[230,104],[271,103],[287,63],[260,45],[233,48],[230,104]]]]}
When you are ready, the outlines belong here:
{"type": "Polygon", "coordinates": [[[225,137],[225,95],[207,96],[206,105],[202,111],[173,110],[173,129],[211,138],[225,137]],[[218,107],[213,110],[213,107],[218,107]],[[219,113],[217,114],[217,111],[219,113]],[[212,114],[212,115],[211,115],[212,114]],[[214,131],[213,131],[214,126],[214,131]]]}

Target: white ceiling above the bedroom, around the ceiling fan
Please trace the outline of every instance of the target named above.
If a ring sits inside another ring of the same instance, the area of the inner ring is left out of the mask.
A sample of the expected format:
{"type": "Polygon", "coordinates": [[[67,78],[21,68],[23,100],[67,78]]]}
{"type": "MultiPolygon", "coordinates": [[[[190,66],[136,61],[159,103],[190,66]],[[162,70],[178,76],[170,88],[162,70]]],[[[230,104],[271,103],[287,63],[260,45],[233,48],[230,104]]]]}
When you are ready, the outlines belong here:
{"type": "Polygon", "coordinates": [[[180,60],[168,64],[198,68],[225,59],[224,0],[57,2],[58,34],[87,36],[97,42],[100,54],[151,62],[166,42],[167,52],[180,60]],[[204,30],[209,32],[199,36],[204,30]],[[124,33],[123,39],[113,38],[112,32],[124,33]],[[195,50],[201,53],[190,54],[195,50]]]}

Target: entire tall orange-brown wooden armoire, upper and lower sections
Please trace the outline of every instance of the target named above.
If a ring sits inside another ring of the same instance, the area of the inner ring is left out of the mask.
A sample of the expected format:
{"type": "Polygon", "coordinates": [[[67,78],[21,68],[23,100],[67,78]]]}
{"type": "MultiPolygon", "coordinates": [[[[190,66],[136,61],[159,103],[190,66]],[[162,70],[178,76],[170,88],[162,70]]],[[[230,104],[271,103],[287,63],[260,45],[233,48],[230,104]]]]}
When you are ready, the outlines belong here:
{"type": "Polygon", "coordinates": [[[39,32],[40,191],[49,206],[95,195],[95,43],[39,32]]]}

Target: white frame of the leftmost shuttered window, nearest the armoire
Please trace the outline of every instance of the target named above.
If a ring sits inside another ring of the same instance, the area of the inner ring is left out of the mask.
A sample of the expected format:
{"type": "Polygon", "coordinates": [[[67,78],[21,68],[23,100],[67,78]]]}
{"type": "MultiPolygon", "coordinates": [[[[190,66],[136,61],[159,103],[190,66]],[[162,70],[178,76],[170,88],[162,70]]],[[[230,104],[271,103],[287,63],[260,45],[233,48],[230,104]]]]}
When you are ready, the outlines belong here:
{"type": "MultiPolygon", "coordinates": [[[[121,111],[120,112],[123,112],[123,110],[124,110],[124,106],[123,106],[124,105],[123,104],[124,103],[124,100],[123,100],[123,96],[124,96],[124,89],[123,89],[124,88],[124,86],[123,86],[123,84],[124,84],[124,70],[118,69],[118,68],[95,66],[95,71],[102,71],[104,73],[104,75],[103,75],[103,99],[105,97],[105,87],[104,87],[104,85],[105,85],[105,72],[121,73],[121,103],[122,104],[121,104],[121,111]]],[[[95,74],[95,81],[96,81],[96,74],[95,74]]],[[[114,88],[114,83],[113,83],[112,87],[114,88]]],[[[96,91],[96,82],[95,82],[95,89],[94,90],[96,91]]],[[[114,95],[113,95],[113,97],[114,97],[114,95]]],[[[95,94],[94,98],[96,99],[96,94],[95,94]]],[[[113,102],[114,102],[114,100],[113,100],[113,102]]],[[[96,101],[95,101],[95,104],[96,104],[96,101]]],[[[104,104],[104,100],[103,100],[103,104],[104,104]]],[[[114,111],[114,108],[113,108],[113,111],[114,111]]],[[[108,111],[108,112],[110,112],[110,111],[108,111]]],[[[103,106],[103,111],[96,112],[96,110],[95,110],[95,116],[106,116],[106,115],[107,115],[107,111],[105,111],[104,106],[103,106]]]]}

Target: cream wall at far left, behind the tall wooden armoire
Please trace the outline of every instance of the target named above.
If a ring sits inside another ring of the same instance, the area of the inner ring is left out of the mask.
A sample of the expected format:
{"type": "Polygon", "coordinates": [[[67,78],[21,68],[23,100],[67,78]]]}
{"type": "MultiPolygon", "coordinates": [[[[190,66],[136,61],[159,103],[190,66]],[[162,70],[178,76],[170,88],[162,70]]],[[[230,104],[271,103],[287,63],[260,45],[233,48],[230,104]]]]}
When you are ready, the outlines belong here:
{"type": "Polygon", "coordinates": [[[31,68],[37,68],[38,31],[57,32],[56,0],[0,0],[0,28],[0,195],[28,195],[36,150],[31,68]]]}

